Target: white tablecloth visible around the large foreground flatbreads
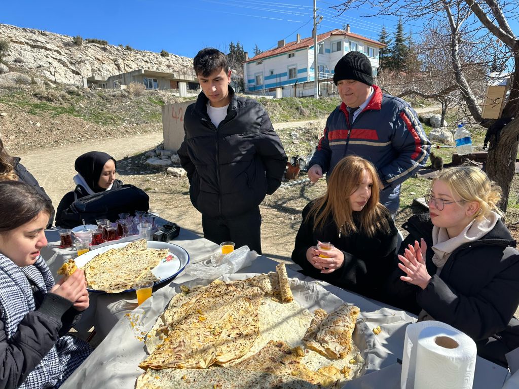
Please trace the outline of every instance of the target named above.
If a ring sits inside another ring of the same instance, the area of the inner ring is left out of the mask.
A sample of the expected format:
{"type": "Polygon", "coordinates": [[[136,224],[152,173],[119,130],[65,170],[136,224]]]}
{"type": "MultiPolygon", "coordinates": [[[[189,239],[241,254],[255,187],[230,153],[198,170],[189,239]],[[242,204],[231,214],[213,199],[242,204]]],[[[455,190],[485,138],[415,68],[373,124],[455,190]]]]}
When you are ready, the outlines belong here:
{"type": "MultiPolygon", "coordinates": [[[[217,249],[216,244],[184,230],[172,243],[184,247],[193,261],[207,258],[217,249]]],[[[275,271],[276,265],[277,262],[259,256],[250,267],[240,270],[239,273],[275,271]]],[[[368,327],[373,328],[377,325],[383,327],[383,332],[376,337],[376,344],[372,345],[374,352],[367,360],[365,374],[345,387],[348,389],[399,388],[401,365],[397,363],[397,359],[402,358],[405,327],[415,318],[403,311],[393,310],[377,301],[366,299],[325,282],[313,280],[290,269],[288,269],[288,273],[290,277],[310,282],[312,285],[320,285],[340,299],[356,304],[363,312],[368,327]]],[[[129,310],[136,307],[134,296],[121,294],[99,296],[97,317],[95,318],[96,326],[99,325],[98,331],[108,331],[115,326],[62,388],[133,388],[136,377],[142,373],[142,370],[138,368],[138,364],[144,356],[143,343],[138,339],[142,335],[141,331],[147,331],[148,327],[155,322],[158,314],[174,296],[175,287],[180,283],[189,282],[191,279],[192,277],[187,274],[177,276],[171,284],[155,291],[152,298],[133,311],[129,310]],[[138,322],[146,323],[146,325],[142,328],[139,326],[136,329],[132,328],[127,314],[132,319],[137,319],[138,322]]],[[[356,336],[360,337],[359,334],[356,336]]],[[[356,343],[362,342],[361,338],[355,339],[356,343]]],[[[362,345],[359,344],[359,346],[362,345]]],[[[507,369],[478,357],[473,387],[476,389],[501,388],[507,374],[507,369]]]]}

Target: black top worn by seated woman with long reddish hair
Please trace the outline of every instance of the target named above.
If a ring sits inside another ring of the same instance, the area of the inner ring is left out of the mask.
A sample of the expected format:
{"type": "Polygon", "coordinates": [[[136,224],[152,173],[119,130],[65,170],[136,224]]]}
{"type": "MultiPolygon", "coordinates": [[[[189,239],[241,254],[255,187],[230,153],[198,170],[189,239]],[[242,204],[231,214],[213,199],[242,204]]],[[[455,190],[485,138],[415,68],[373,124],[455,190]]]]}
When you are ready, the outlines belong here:
{"type": "Polygon", "coordinates": [[[337,227],[332,217],[326,220],[323,231],[313,230],[313,220],[306,220],[313,201],[303,210],[303,222],[295,238],[292,260],[303,268],[303,273],[313,278],[351,290],[360,295],[385,301],[381,293],[382,285],[388,281],[393,271],[395,250],[397,249],[398,231],[388,214],[387,219],[391,232],[378,231],[374,237],[368,237],[360,230],[346,236],[338,236],[337,227]],[[331,242],[344,253],[343,266],[330,274],[323,274],[306,259],[308,247],[315,246],[317,241],[331,242]]]}

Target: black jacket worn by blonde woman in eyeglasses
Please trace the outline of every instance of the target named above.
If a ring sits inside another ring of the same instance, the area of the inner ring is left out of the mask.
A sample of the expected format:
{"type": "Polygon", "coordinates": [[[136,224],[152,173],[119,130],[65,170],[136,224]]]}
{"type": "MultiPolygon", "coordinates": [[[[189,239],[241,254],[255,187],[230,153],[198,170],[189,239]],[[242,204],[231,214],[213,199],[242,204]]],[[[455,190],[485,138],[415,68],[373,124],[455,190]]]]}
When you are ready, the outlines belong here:
{"type": "MultiPolygon", "coordinates": [[[[426,266],[432,276],[427,287],[408,284],[393,274],[389,290],[392,304],[418,314],[424,309],[434,319],[469,335],[478,349],[489,337],[507,329],[517,334],[519,305],[519,253],[507,227],[498,221],[483,238],[459,246],[450,254],[438,275],[432,262],[432,223],[429,214],[415,215],[403,225],[409,235],[400,246],[424,238],[427,243],[426,266]]],[[[510,347],[519,346],[510,345],[510,347]]]]}

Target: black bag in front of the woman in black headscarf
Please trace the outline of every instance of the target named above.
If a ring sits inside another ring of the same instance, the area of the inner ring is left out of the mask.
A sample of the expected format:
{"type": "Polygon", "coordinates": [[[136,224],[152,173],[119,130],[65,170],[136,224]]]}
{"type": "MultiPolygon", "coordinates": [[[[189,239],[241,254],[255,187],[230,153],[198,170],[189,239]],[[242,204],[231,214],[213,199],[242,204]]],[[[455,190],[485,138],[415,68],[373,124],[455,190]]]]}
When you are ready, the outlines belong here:
{"type": "Polygon", "coordinates": [[[119,219],[120,213],[134,215],[135,211],[148,211],[149,197],[136,186],[125,184],[81,197],[61,214],[60,227],[73,228],[83,224],[97,224],[96,219],[119,219]]]}

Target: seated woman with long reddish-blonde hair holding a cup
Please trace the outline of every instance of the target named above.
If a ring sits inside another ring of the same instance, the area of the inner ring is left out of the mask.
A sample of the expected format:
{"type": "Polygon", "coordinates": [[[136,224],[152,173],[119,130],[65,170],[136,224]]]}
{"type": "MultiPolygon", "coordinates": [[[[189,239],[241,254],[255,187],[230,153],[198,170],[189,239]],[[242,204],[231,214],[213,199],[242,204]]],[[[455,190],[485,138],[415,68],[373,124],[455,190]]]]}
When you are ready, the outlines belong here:
{"type": "Polygon", "coordinates": [[[303,210],[292,260],[304,274],[384,299],[381,286],[393,271],[398,231],[379,203],[379,192],[378,174],[369,161],[347,156],[337,163],[326,194],[303,210]],[[323,251],[318,241],[334,248],[323,251]]]}

